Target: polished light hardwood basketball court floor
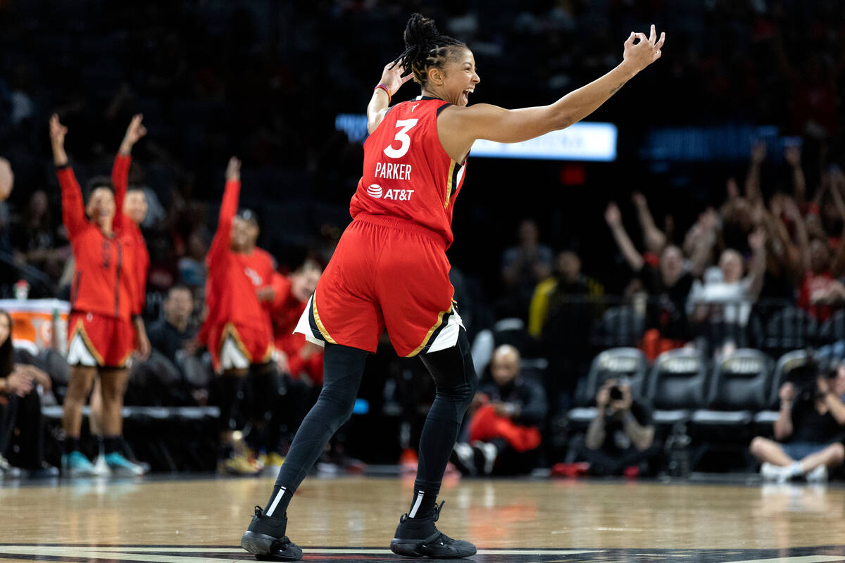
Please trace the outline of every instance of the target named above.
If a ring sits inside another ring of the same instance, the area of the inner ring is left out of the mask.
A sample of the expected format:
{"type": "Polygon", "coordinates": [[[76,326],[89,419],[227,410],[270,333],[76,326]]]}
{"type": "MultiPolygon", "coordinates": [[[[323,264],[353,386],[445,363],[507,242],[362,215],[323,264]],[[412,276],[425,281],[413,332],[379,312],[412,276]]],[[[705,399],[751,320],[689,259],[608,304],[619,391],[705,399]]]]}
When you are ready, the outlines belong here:
{"type": "MultiPolygon", "coordinates": [[[[0,562],[253,560],[237,547],[273,479],[0,486],[0,562]]],[[[387,548],[412,479],[307,479],[288,535],[306,561],[408,560],[387,548]]],[[[845,561],[837,485],[447,480],[439,528],[493,563],[845,561]]]]}

